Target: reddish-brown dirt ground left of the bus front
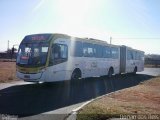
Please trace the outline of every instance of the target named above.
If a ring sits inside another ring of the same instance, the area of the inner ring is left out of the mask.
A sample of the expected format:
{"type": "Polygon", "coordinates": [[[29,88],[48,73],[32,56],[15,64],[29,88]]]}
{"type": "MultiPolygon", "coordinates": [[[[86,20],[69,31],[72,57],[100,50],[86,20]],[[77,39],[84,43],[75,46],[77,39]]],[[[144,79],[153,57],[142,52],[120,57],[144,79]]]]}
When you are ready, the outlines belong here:
{"type": "Polygon", "coordinates": [[[15,62],[0,62],[0,83],[18,80],[15,62]]]}

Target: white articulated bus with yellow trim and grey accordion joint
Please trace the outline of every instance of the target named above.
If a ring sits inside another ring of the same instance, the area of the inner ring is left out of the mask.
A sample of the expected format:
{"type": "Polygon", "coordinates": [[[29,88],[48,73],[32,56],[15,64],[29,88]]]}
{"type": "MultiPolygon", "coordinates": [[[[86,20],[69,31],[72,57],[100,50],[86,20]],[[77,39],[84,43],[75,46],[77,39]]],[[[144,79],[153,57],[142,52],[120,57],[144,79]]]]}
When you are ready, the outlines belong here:
{"type": "Polygon", "coordinates": [[[24,81],[75,81],[143,71],[144,52],[96,39],[34,34],[22,40],[16,65],[24,81]]]}

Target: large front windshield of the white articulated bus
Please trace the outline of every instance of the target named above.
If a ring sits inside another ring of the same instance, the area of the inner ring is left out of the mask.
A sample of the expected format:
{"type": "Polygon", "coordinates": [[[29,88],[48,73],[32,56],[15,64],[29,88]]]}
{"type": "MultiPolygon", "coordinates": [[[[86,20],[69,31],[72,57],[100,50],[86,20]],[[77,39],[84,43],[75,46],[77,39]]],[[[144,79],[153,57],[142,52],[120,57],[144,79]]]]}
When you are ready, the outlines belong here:
{"type": "Polygon", "coordinates": [[[22,43],[18,50],[17,65],[44,66],[47,60],[48,45],[47,43],[22,43]]]}

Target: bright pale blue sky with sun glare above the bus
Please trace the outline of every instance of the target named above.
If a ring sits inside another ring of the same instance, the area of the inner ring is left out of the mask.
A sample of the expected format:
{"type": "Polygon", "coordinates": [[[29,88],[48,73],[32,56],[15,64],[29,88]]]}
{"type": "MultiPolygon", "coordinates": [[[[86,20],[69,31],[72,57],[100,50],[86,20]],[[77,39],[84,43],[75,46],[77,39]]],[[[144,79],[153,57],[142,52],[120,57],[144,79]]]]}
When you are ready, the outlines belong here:
{"type": "Polygon", "coordinates": [[[160,54],[160,0],[0,0],[0,51],[57,32],[160,54]]]}

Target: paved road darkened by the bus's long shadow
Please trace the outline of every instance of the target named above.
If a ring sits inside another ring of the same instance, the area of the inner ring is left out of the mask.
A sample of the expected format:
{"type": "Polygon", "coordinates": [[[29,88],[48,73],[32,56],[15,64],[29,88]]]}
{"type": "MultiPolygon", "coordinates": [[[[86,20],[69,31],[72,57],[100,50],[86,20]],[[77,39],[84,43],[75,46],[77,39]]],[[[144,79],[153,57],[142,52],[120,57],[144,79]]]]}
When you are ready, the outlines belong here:
{"type": "Polygon", "coordinates": [[[46,85],[20,81],[0,84],[0,114],[18,115],[23,120],[63,120],[68,113],[88,100],[135,86],[158,74],[160,69],[146,68],[137,75],[123,74],[111,79],[88,78],[78,83],[55,82],[46,85]]]}

